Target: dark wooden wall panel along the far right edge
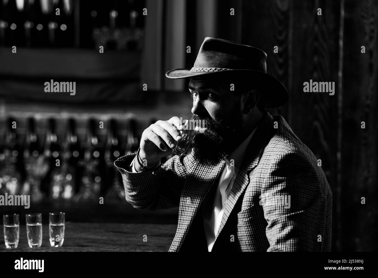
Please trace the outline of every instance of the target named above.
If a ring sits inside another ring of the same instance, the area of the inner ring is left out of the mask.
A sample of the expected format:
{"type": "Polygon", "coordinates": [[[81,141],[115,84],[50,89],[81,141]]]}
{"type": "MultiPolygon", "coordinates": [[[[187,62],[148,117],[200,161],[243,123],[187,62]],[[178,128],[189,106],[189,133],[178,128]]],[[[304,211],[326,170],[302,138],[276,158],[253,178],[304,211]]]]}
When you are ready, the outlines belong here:
{"type": "Polygon", "coordinates": [[[346,0],[344,22],[342,250],[377,251],[378,1],[346,0]]]}

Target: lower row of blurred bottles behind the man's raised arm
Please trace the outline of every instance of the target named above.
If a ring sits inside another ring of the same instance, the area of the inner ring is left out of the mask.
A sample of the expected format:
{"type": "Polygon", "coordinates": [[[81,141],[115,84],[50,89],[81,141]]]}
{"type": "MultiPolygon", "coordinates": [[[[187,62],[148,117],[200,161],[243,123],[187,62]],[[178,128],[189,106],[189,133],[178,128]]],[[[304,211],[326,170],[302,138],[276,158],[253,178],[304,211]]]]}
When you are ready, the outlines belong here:
{"type": "Polygon", "coordinates": [[[19,134],[12,117],[0,128],[0,195],[30,195],[33,203],[98,203],[100,197],[125,202],[122,177],[114,161],[138,150],[136,119],[101,122],[91,118],[85,123],[84,136],[77,134],[77,119],[61,119],[65,124],[59,126],[59,133],[57,120],[47,119],[45,136],[37,133],[36,119],[25,120],[25,134],[19,134]],[[119,134],[121,125],[126,127],[125,136],[119,134]],[[99,136],[100,130],[105,136],[99,136]]]}

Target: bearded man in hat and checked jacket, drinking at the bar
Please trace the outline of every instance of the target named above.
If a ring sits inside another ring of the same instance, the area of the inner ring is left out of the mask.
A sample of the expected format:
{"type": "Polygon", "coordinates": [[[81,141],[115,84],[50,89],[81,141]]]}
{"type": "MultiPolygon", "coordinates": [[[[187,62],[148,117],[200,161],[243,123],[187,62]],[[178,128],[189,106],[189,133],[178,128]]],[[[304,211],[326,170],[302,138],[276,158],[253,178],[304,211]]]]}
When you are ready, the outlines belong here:
{"type": "Polygon", "coordinates": [[[288,100],[259,48],[206,37],[191,69],[193,121],[207,128],[188,155],[179,117],[144,130],[137,153],[115,161],[133,207],[179,207],[169,251],[330,251],[332,192],[317,159],[265,107],[288,100]]]}

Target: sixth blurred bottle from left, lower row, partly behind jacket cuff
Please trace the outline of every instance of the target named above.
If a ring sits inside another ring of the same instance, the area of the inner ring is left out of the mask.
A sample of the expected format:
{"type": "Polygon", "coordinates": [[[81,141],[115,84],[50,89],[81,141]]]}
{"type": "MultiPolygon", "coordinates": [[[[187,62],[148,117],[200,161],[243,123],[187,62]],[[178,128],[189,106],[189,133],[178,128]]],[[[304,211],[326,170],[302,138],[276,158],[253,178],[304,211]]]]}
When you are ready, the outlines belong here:
{"type": "Polygon", "coordinates": [[[105,164],[107,166],[107,188],[106,198],[111,200],[125,200],[125,191],[122,185],[121,173],[114,166],[114,161],[122,153],[121,141],[117,132],[117,124],[114,119],[110,120],[108,129],[107,142],[105,145],[105,164]]]}

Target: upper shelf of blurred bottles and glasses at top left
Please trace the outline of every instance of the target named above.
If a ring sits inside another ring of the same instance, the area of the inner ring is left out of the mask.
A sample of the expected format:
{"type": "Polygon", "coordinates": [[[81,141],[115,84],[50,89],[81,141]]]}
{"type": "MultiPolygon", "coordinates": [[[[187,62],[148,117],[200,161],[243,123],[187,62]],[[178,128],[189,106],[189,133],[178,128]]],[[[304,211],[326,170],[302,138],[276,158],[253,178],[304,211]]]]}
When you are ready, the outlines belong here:
{"type": "Polygon", "coordinates": [[[144,0],[1,0],[0,46],[139,50],[144,0]]]}

